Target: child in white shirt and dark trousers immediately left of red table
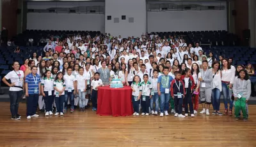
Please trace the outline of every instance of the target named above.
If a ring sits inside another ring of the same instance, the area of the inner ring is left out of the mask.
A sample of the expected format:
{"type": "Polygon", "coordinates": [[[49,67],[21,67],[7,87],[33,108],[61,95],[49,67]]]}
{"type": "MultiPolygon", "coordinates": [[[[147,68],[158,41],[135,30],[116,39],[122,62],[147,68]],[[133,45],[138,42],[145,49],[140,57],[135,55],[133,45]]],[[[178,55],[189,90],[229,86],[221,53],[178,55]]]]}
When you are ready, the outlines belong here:
{"type": "Polygon", "coordinates": [[[98,97],[98,87],[102,87],[102,80],[99,79],[100,74],[96,72],[94,74],[94,79],[91,84],[91,94],[92,94],[92,111],[97,111],[97,97],[98,97]]]}

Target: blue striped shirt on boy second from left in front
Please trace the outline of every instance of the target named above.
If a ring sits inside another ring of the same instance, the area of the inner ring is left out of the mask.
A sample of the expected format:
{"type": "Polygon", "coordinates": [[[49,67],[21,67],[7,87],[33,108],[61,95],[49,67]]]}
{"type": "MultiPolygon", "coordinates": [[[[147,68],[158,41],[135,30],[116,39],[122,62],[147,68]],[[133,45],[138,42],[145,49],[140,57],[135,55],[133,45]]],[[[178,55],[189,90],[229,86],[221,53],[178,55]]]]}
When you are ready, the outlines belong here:
{"type": "Polygon", "coordinates": [[[28,74],[25,83],[28,83],[28,94],[39,94],[39,83],[41,83],[41,79],[38,74],[36,76],[33,76],[32,73],[28,74]]]}

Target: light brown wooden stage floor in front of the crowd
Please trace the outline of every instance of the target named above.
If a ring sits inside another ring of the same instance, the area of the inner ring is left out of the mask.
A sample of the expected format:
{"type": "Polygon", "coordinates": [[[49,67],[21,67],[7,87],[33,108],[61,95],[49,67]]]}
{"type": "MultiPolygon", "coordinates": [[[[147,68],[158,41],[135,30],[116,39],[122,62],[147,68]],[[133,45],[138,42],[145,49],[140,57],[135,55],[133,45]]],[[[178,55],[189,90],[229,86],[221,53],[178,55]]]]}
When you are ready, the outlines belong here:
{"type": "MultiPolygon", "coordinates": [[[[223,104],[221,104],[223,106],[223,104]]],[[[10,119],[10,104],[0,102],[0,146],[256,146],[256,105],[249,120],[230,116],[99,116],[92,110],[63,117],[10,119]]]]}

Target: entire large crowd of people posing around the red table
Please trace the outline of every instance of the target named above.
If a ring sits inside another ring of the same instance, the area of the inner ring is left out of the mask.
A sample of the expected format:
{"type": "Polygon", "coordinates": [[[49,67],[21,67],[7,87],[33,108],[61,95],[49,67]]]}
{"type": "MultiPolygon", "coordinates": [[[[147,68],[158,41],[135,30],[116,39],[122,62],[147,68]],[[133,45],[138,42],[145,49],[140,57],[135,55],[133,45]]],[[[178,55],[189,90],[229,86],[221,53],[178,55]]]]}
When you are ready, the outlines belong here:
{"type": "Polygon", "coordinates": [[[247,102],[251,91],[252,64],[232,66],[232,58],[218,59],[212,52],[205,55],[196,43],[187,45],[180,36],[142,35],[141,38],[113,37],[110,34],[49,39],[44,55],[33,53],[20,66],[13,62],[13,71],[3,82],[10,87],[10,110],[13,120],[19,120],[20,97],[27,99],[27,119],[38,117],[36,109],[45,116],[63,116],[90,108],[97,111],[98,87],[108,86],[116,75],[124,86],[132,89],[135,116],[158,115],[195,117],[205,115],[232,116],[243,114],[248,120],[247,102]],[[11,80],[8,83],[7,80],[11,80]],[[223,94],[225,111],[221,113],[223,94]],[[202,111],[198,111],[199,103],[202,111]],[[212,106],[213,111],[210,112],[212,106]],[[53,108],[55,114],[53,114],[53,108]],[[169,111],[170,110],[170,111],[169,111]],[[183,113],[184,111],[184,113],[183,113]]]}

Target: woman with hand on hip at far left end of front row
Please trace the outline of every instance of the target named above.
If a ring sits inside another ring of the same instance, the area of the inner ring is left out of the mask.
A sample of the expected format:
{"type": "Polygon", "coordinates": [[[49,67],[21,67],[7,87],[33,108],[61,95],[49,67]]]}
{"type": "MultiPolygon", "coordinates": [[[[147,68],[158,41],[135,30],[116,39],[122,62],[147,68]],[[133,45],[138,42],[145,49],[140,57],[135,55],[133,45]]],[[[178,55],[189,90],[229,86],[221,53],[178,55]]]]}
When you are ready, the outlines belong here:
{"type": "Polygon", "coordinates": [[[18,113],[19,102],[23,94],[22,87],[24,85],[24,73],[19,70],[20,64],[15,61],[12,64],[13,71],[6,74],[3,78],[3,82],[10,87],[9,96],[10,96],[10,110],[12,113],[12,120],[20,120],[20,115],[18,113]],[[8,83],[7,80],[11,80],[11,83],[8,83]]]}

